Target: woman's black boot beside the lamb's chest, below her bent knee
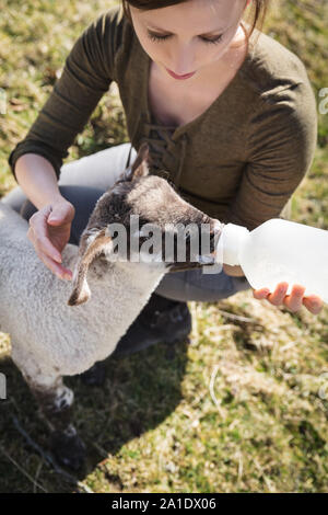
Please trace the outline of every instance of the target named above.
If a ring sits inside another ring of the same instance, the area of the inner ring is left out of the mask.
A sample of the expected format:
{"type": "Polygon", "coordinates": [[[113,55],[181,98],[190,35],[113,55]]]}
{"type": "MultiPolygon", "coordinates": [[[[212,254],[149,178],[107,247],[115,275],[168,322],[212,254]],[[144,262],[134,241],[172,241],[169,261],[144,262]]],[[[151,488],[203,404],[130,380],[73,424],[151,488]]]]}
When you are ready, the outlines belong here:
{"type": "Polygon", "coordinates": [[[187,302],[171,300],[153,293],[119,340],[112,356],[127,356],[160,342],[174,344],[186,340],[190,331],[191,314],[187,302]]]}

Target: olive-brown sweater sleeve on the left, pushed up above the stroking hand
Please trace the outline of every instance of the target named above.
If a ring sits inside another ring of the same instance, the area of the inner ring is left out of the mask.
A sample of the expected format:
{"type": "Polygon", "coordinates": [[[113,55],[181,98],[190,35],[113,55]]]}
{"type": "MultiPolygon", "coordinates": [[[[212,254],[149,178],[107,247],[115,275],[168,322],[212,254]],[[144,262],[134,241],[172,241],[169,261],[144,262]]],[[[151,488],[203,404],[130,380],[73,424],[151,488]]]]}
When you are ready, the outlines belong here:
{"type": "Polygon", "coordinates": [[[118,10],[109,9],[74,43],[48,100],[25,138],[10,153],[9,164],[15,180],[15,163],[24,153],[48,159],[59,180],[69,147],[115,80],[114,59],[119,44],[117,16],[118,10]]]}

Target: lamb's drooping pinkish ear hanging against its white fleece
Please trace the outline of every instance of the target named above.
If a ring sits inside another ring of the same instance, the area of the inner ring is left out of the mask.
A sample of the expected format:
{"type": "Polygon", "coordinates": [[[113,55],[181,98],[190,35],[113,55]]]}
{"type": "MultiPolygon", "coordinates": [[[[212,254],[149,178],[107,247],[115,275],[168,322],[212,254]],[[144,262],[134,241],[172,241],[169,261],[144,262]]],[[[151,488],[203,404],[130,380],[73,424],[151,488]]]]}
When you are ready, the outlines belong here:
{"type": "Polygon", "coordinates": [[[105,249],[110,252],[113,241],[106,233],[106,228],[86,228],[81,236],[79,256],[73,273],[73,291],[68,300],[68,306],[78,306],[86,302],[91,296],[86,275],[93,260],[105,249]]]}

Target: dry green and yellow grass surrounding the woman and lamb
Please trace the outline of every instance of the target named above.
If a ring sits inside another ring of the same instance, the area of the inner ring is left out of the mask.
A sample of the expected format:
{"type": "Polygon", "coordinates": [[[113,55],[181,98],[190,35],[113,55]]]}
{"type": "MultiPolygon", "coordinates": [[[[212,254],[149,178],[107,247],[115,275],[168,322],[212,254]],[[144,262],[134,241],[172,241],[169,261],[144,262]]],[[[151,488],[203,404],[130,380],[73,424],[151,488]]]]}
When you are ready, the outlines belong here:
{"type": "MultiPolygon", "coordinates": [[[[0,88],[8,112],[0,116],[0,195],[16,185],[9,152],[50,93],[73,41],[112,4],[4,0],[0,88]]],[[[318,102],[328,87],[327,20],[327,2],[277,0],[263,28],[304,61],[318,102]]],[[[124,141],[125,116],[113,84],[68,160],[124,141]]],[[[315,160],[292,205],[294,220],[324,229],[327,144],[328,115],[319,115],[315,160]]],[[[251,291],[189,307],[190,343],[179,344],[173,357],[160,344],[108,359],[103,388],[67,378],[90,449],[75,483],[31,445],[46,448],[45,426],[10,359],[10,337],[1,334],[8,399],[0,400],[0,491],[327,492],[327,307],[319,316],[305,308],[291,313],[251,291]]]]}

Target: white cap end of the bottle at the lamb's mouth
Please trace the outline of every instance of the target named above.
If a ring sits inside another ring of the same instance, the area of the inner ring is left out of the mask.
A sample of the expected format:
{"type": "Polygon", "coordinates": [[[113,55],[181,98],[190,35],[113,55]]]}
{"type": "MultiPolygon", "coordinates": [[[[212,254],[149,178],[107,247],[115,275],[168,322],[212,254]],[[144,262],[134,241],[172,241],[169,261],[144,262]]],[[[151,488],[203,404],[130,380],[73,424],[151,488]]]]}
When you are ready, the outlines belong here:
{"type": "Polygon", "coordinates": [[[239,250],[245,237],[249,233],[246,227],[236,224],[226,224],[223,227],[218,247],[222,247],[218,255],[223,255],[223,263],[235,266],[239,265],[239,250]]]}

